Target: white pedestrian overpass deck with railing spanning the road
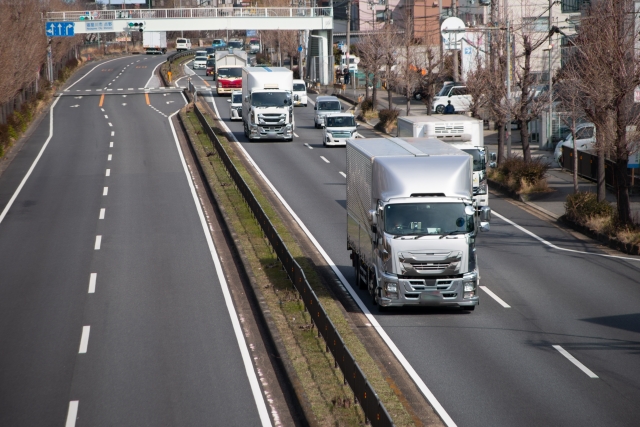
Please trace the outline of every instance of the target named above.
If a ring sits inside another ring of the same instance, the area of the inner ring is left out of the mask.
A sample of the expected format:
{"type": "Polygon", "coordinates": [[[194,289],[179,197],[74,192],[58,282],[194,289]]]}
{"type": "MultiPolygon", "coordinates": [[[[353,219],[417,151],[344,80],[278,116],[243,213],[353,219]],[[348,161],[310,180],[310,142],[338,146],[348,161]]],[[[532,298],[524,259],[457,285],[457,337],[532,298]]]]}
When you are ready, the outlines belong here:
{"type": "Polygon", "coordinates": [[[47,12],[45,22],[73,23],[75,34],[144,31],[333,30],[331,7],[195,7],[47,12]]]}

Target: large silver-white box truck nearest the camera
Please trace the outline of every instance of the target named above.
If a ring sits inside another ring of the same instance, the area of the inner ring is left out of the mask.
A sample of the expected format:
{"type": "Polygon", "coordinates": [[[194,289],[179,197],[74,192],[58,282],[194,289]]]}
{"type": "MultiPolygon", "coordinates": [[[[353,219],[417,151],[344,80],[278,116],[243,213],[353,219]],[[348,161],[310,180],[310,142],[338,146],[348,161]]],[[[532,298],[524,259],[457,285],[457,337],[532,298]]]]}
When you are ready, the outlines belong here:
{"type": "Polygon", "coordinates": [[[347,140],[347,248],[380,310],[478,305],[471,157],[432,138],[347,140]]]}

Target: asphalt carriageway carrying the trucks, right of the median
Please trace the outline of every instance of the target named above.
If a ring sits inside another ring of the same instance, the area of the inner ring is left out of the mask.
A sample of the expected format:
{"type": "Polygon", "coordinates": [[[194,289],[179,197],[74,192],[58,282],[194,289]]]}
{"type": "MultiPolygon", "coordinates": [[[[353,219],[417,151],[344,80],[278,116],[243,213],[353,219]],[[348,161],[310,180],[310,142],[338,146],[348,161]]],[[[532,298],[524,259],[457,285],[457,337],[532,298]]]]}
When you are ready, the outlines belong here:
{"type": "MultiPolygon", "coordinates": [[[[353,287],[344,148],[322,146],[311,103],[295,109],[293,142],[249,143],[241,122],[228,120],[226,98],[211,100],[353,287]]],[[[354,292],[442,404],[451,425],[637,425],[640,260],[600,256],[597,245],[500,197],[492,195],[490,204],[497,215],[491,231],[479,238],[480,284],[486,288],[474,312],[419,308],[378,314],[364,291],[354,292]]]]}

